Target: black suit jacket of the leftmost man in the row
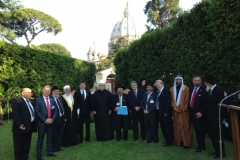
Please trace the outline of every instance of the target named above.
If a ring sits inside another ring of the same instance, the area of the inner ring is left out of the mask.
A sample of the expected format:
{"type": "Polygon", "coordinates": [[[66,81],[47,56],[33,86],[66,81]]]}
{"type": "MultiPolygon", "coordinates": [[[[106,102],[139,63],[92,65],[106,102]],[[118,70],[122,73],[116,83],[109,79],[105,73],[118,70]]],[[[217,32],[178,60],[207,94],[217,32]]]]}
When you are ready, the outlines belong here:
{"type": "Polygon", "coordinates": [[[25,100],[21,97],[15,99],[12,103],[13,111],[13,124],[12,132],[15,133],[27,133],[31,131],[36,131],[35,121],[31,122],[31,113],[28,109],[28,106],[25,100]],[[21,125],[25,126],[25,130],[21,130],[19,127],[21,125]]]}

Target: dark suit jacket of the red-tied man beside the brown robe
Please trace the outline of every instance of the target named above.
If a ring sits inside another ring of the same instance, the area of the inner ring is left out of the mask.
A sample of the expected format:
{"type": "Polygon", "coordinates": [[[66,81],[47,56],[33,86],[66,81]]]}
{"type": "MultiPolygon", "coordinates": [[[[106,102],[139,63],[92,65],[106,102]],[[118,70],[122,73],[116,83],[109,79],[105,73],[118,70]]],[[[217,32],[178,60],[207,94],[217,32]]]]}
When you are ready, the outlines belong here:
{"type": "Polygon", "coordinates": [[[189,109],[190,109],[191,118],[196,118],[197,112],[200,112],[202,114],[204,114],[204,112],[205,112],[204,98],[205,98],[207,92],[206,92],[206,87],[200,86],[197,91],[196,97],[194,99],[193,107],[191,108],[190,103],[191,103],[193,91],[194,91],[194,87],[190,88],[189,109]]]}

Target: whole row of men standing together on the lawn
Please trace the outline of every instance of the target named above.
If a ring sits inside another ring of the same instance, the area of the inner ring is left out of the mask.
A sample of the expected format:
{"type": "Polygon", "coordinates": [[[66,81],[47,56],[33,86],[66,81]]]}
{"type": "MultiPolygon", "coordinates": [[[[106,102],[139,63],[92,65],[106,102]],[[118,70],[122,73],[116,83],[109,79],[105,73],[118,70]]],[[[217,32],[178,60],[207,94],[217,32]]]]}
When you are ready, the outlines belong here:
{"type": "MultiPolygon", "coordinates": [[[[139,138],[147,143],[158,143],[160,124],[164,137],[164,146],[173,143],[185,148],[192,147],[192,124],[196,132],[196,152],[205,150],[205,128],[208,124],[214,158],[220,157],[218,103],[223,99],[223,91],[216,84],[214,76],[204,79],[206,87],[201,85],[201,77],[193,77],[193,87],[188,88],[181,76],[176,76],[174,86],[164,87],[162,80],[156,80],[154,86],[143,80],[138,87],[132,81],[131,91],[124,93],[124,87],[117,85],[117,94],[112,95],[105,89],[105,82],[99,81],[99,90],[93,95],[86,90],[86,83],[80,82],[79,90],[74,94],[69,85],[63,87],[60,96],[57,86],[43,88],[42,96],[32,104],[31,89],[24,88],[22,97],[13,102],[13,140],[15,159],[28,159],[31,135],[36,131],[37,123],[37,159],[42,159],[42,148],[47,134],[47,156],[61,151],[61,146],[69,147],[83,143],[83,126],[86,126],[85,140],[90,139],[90,116],[94,115],[95,132],[98,141],[112,140],[116,131],[116,140],[128,140],[128,130],[133,130],[133,141],[139,138]],[[52,95],[50,96],[50,94],[52,95]],[[119,106],[125,106],[126,114],[119,114],[119,106]],[[192,124],[191,124],[192,123],[192,124]],[[121,129],[123,128],[123,133],[121,129]]],[[[225,155],[223,143],[223,156],[225,155]]]]}

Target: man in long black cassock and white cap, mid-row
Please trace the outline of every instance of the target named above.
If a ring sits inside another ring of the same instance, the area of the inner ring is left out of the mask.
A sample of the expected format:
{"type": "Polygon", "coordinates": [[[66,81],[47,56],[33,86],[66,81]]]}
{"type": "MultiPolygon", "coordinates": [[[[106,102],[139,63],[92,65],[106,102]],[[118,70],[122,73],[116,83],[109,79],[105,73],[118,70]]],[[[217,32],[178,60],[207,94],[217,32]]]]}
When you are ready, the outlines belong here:
{"type": "Polygon", "coordinates": [[[96,137],[98,141],[112,140],[112,94],[105,89],[103,80],[100,80],[98,84],[99,90],[95,91],[92,97],[96,137]]]}

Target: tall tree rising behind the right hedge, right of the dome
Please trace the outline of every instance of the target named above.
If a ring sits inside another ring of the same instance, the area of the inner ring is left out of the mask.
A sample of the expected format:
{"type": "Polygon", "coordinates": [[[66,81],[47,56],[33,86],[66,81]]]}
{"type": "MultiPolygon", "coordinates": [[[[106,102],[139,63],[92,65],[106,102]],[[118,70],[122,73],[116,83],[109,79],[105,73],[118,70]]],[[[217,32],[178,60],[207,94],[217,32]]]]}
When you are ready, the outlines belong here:
{"type": "Polygon", "coordinates": [[[150,31],[152,27],[160,29],[169,27],[180,11],[178,4],[179,0],[148,1],[144,9],[147,22],[150,23],[150,26],[146,25],[148,30],[150,31]]]}

